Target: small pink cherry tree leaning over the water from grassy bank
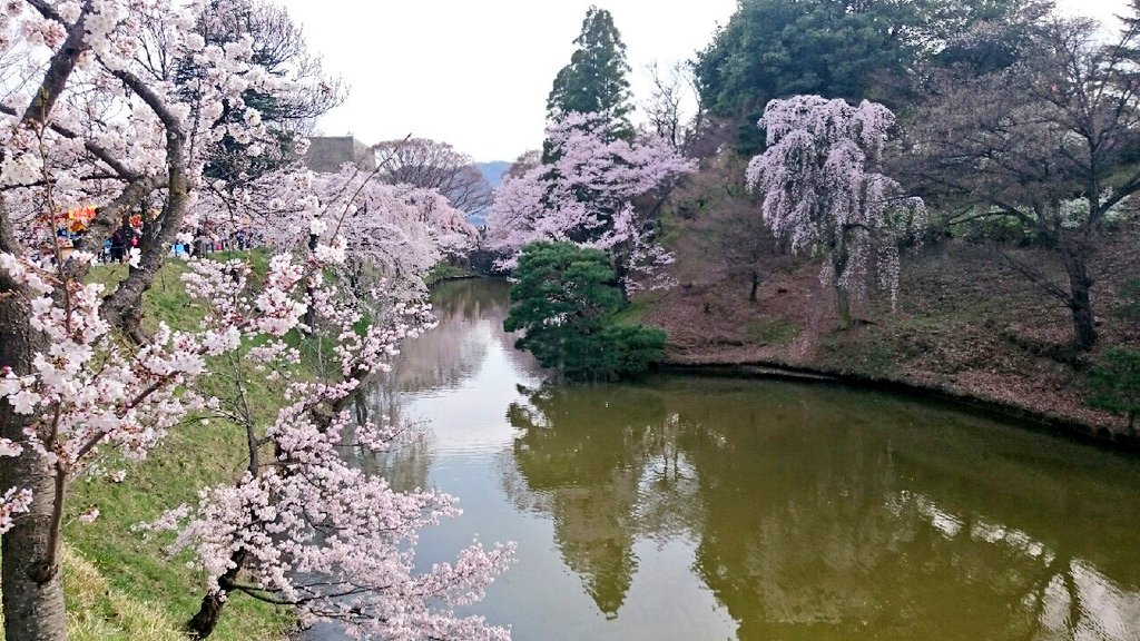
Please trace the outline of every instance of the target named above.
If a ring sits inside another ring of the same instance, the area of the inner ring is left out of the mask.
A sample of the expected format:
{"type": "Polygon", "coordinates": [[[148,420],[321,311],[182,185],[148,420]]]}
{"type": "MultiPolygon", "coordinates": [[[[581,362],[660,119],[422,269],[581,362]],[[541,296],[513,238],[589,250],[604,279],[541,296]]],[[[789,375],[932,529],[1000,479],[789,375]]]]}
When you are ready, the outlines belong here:
{"type": "MultiPolygon", "coordinates": [[[[318,219],[310,233],[321,236],[335,222],[318,219]]],[[[212,403],[215,416],[246,430],[245,473],[234,485],[203,490],[196,506],[181,505],[141,528],[177,530],[172,550],[193,550],[205,570],[207,592],[188,624],[198,639],[210,635],[234,594],[292,606],[302,624],[341,622],[357,636],[505,639],[506,631],[487,627],[478,617],[457,618],[446,608],[477,600],[505,568],[512,547],[483,550],[477,543],[455,563],[415,574],[420,529],[457,514],[455,498],[430,490],[396,493],[384,479],[347,462],[345,454],[384,449],[400,436],[401,428],[385,421],[352,421],[350,404],[361,386],[390,368],[398,343],[415,338],[430,314],[423,305],[396,301],[383,323],[358,332],[359,297],[342,295],[321,275],[343,263],[345,253],[345,242],[335,236],[309,252],[311,268],[299,269],[290,254],[278,254],[261,293],[249,290],[250,270],[241,262],[193,265],[188,291],[212,301],[207,324],[234,326],[255,318],[270,299],[293,311],[290,320],[303,319],[310,332],[326,336],[318,341],[318,362],[326,365],[318,381],[288,382],[301,356],[285,339],[285,323],[269,335],[235,336],[231,380],[243,381],[251,368],[266,372],[282,381],[288,404],[264,427],[242,401],[241,384],[228,401],[212,403]],[[293,289],[303,295],[283,297],[274,289],[282,281],[303,282],[293,289]]],[[[372,293],[388,295],[380,289],[372,293]]]]}

